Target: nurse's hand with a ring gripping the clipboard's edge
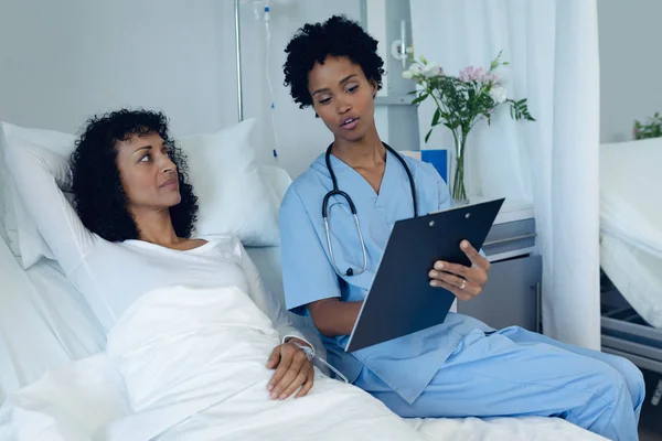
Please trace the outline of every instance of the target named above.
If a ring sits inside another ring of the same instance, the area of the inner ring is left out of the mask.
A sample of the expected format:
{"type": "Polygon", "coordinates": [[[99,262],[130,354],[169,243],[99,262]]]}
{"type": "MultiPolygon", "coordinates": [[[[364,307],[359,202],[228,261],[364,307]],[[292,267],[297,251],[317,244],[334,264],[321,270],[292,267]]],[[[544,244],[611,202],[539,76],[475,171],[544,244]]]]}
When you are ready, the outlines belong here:
{"type": "Polygon", "coordinates": [[[471,300],[480,294],[488,282],[490,261],[482,257],[468,240],[462,240],[460,248],[471,260],[471,268],[463,265],[436,261],[429,272],[433,287],[445,288],[460,300],[471,300]]]}

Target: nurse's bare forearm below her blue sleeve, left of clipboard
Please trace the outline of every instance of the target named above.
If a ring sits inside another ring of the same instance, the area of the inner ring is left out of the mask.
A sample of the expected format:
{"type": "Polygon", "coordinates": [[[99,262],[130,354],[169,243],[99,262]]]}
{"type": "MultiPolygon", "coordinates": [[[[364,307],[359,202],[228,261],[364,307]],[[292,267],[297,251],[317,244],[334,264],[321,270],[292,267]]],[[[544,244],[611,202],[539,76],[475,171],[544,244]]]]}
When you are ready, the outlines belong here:
{"type": "Polygon", "coordinates": [[[362,301],[343,302],[339,298],[331,298],[308,303],[308,311],[318,331],[334,337],[352,333],[362,304],[362,301]]]}

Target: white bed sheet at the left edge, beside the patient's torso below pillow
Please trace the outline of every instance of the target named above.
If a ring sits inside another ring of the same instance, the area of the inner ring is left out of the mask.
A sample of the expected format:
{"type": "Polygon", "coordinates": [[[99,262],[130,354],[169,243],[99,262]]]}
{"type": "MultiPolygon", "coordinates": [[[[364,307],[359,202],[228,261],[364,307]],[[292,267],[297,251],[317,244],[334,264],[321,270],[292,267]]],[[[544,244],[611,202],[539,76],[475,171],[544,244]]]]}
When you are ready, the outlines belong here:
{"type": "Polygon", "coordinates": [[[0,239],[0,404],[104,345],[94,314],[57,265],[42,260],[25,271],[0,239]]]}

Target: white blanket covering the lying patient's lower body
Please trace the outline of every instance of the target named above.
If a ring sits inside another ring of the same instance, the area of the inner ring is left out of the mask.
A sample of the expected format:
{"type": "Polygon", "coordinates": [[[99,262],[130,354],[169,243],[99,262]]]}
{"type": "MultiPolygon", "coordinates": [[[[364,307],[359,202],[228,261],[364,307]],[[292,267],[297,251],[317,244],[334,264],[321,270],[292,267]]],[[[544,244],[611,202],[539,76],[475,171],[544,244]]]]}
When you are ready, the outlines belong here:
{"type": "Polygon", "coordinates": [[[149,293],[110,334],[108,354],[13,394],[0,441],[601,439],[557,418],[403,420],[320,374],[308,397],[270,401],[265,364],[278,343],[236,289],[149,293]]]}

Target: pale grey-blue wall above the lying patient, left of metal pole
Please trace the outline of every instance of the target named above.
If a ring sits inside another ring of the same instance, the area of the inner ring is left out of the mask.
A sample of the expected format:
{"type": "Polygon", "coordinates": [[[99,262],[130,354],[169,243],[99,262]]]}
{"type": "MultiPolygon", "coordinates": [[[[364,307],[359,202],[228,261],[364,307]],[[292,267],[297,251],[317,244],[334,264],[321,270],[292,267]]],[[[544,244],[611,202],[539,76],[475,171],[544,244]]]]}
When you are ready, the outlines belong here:
{"type": "Polygon", "coordinates": [[[164,110],[178,135],[236,120],[221,94],[234,85],[234,65],[221,68],[231,1],[0,0],[0,11],[2,120],[71,132],[120,106],[164,110]]]}

